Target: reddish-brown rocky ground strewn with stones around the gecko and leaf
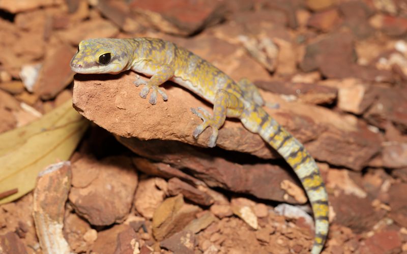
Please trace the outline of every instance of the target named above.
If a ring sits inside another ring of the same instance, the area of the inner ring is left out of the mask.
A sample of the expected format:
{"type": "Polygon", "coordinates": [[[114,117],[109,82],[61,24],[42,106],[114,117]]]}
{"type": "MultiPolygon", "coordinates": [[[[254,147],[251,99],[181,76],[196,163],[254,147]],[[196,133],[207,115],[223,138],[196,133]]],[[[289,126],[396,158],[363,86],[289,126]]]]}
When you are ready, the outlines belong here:
{"type": "Polygon", "coordinates": [[[190,108],[211,105],[173,83],[152,106],[132,72],[74,80],[78,43],[96,37],[163,38],[252,80],[324,177],[323,253],[407,253],[402,0],[0,0],[0,133],[70,100],[93,122],[70,163],[0,205],[0,253],[46,253],[46,239],[75,253],[309,252],[312,213],[278,154],[232,119],[205,148],[190,108]]]}

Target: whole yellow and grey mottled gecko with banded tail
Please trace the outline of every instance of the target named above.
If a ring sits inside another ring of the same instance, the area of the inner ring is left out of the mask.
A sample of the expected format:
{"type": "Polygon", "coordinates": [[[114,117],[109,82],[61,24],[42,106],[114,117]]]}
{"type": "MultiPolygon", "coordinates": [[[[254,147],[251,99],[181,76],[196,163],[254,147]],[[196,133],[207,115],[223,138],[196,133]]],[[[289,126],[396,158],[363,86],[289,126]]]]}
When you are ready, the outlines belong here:
{"type": "Polygon", "coordinates": [[[132,70],[134,84],[142,86],[140,97],[156,104],[158,94],[168,96],[159,86],[173,81],[213,104],[212,114],[203,108],[191,108],[202,119],[193,131],[194,138],[212,129],[208,146],[216,146],[219,129],[226,117],[239,118],[250,132],[256,133],[272,146],[293,168],[310,201],[315,221],[315,237],[311,253],[322,251],[328,235],[328,194],[321,173],[304,146],[264,109],[258,88],[248,79],[235,82],[210,62],[176,44],[155,38],[88,39],[81,41],[70,67],[80,74],[118,74],[132,70]]]}

